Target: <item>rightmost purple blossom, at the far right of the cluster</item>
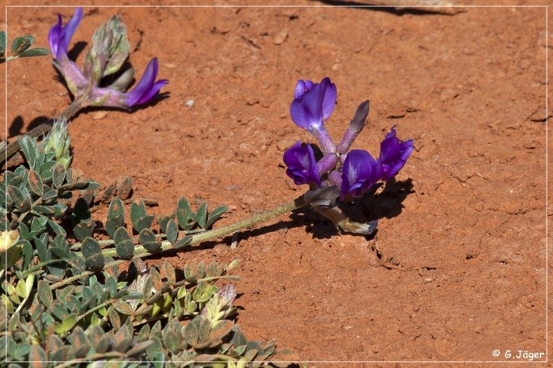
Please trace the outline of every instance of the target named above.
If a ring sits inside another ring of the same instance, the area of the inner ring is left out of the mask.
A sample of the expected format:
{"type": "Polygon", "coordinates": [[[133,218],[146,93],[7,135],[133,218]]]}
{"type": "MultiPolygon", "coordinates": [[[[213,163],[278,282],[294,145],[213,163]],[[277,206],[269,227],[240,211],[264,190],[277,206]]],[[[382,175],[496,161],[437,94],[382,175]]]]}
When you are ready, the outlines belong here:
{"type": "Polygon", "coordinates": [[[400,141],[395,136],[395,125],[392,126],[390,133],[386,134],[380,143],[378,163],[382,166],[382,180],[390,180],[394,177],[404,166],[413,149],[415,149],[413,139],[406,142],[400,141]]]}

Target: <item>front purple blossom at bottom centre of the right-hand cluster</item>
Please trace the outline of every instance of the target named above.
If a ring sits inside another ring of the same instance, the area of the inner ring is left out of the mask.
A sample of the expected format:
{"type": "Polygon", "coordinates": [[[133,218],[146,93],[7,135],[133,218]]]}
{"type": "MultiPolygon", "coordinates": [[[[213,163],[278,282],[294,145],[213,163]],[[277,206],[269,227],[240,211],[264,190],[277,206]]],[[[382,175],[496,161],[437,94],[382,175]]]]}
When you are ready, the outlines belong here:
{"type": "Polygon", "coordinates": [[[341,171],[341,200],[346,195],[361,197],[382,176],[382,169],[371,153],[363,150],[350,151],[341,171]]]}

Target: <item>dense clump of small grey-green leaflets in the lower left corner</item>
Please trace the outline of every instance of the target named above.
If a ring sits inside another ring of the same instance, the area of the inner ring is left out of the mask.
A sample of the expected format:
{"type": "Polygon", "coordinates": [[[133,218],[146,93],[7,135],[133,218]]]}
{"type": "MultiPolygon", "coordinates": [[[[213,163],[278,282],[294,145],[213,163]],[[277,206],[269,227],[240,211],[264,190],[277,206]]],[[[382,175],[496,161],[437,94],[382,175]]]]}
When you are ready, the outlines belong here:
{"type": "Polygon", "coordinates": [[[158,231],[142,201],[131,204],[126,219],[121,198],[114,197],[102,224],[109,239],[95,240],[98,226],[86,195],[99,185],[66,167],[67,149],[53,151],[68,148],[66,133],[59,122],[42,142],[21,139],[26,165],[2,176],[7,192],[0,187],[0,213],[7,230],[0,244],[0,319],[8,328],[0,336],[1,358],[40,361],[42,367],[91,360],[261,364],[274,358],[273,342],[247,340],[232,320],[234,286],[216,285],[238,280],[229,275],[238,260],[184,269],[141,261],[163,246],[188,246],[225,207],[208,213],[203,203],[194,212],[182,198],[174,215],[158,219],[158,231]]]}

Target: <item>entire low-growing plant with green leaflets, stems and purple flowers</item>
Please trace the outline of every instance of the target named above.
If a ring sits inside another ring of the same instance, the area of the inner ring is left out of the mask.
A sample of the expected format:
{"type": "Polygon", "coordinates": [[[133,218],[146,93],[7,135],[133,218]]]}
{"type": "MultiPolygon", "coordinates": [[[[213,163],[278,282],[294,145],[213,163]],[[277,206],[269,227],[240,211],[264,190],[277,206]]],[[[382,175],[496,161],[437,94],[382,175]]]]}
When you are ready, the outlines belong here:
{"type": "MultiPolygon", "coordinates": [[[[82,10],[77,8],[64,26],[60,16],[48,35],[53,64],[73,102],[51,124],[7,147],[0,187],[0,320],[6,326],[0,356],[14,367],[18,362],[36,367],[86,362],[288,365],[295,359],[293,351],[277,349],[273,340],[247,340],[234,322],[234,282],[239,278],[229,273],[238,260],[189,262],[181,269],[167,261],[147,267],[144,259],[221,238],[302,206],[311,206],[339,231],[371,235],[376,221],[354,222],[339,205],[371,195],[382,181],[396,175],[413,151],[413,141],[402,142],[393,126],[377,159],[367,151],[350,150],[366,123],[369,105],[364,101],[335,144],[324,128],[335,107],[335,84],[328,78],[320,83],[300,80],[290,115],[318,140],[322,157],[317,160],[310,144],[297,142],[285,151],[283,161],[295,184],[308,184],[306,193],[216,229],[212,227],[227,207],[209,211],[207,202],[201,202],[194,208],[187,197],[178,200],[173,213],[156,219],[148,213],[149,200],[131,200],[131,178],[100,191],[100,184],[71,167],[67,128],[77,111],[87,106],[129,109],[152,101],[168,83],[156,81],[158,62],[152,59],[130,92],[124,90],[132,69],[100,87],[100,81],[120,72],[129,57],[126,28],[118,16],[100,26],[80,70],[67,50],[81,20],[82,10]],[[8,158],[17,153],[24,163],[12,171],[8,158]],[[92,211],[104,205],[106,218],[93,220],[92,211]]],[[[21,57],[24,51],[16,47],[14,55],[21,57]]]]}

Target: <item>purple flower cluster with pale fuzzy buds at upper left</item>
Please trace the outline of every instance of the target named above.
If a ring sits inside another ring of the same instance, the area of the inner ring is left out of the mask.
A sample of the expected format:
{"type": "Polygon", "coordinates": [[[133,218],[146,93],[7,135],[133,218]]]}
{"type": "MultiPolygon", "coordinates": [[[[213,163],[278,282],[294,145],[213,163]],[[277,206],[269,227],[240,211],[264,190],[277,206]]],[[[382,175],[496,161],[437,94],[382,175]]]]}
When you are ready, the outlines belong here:
{"type": "Polygon", "coordinates": [[[84,97],[88,105],[91,106],[131,108],[151,101],[151,99],[158,95],[160,88],[169,83],[167,79],[156,81],[158,59],[153,58],[146,67],[144,75],[142,75],[138,84],[129,92],[124,93],[123,91],[132,80],[132,69],[122,73],[121,77],[111,84],[111,86],[100,88],[98,86],[100,79],[119,70],[124,59],[128,57],[128,47],[122,48],[120,46],[125,45],[125,42],[128,44],[125,35],[126,31],[118,17],[114,17],[111,20],[112,23],[107,23],[103,26],[104,28],[99,28],[95,33],[95,37],[99,35],[98,37],[101,37],[101,39],[93,39],[93,48],[88,53],[87,59],[85,59],[83,72],[67,56],[69,42],[75,30],[77,30],[82,16],[82,8],[76,8],[71,20],[62,26],[62,16],[58,14],[57,23],[48,33],[48,42],[50,43],[50,50],[52,50],[54,57],[54,66],[62,73],[68,88],[75,97],[84,97]],[[102,32],[99,32],[100,30],[102,32]],[[115,37],[124,38],[124,42],[114,41],[115,37]],[[94,72],[96,72],[95,75],[94,72]]]}

